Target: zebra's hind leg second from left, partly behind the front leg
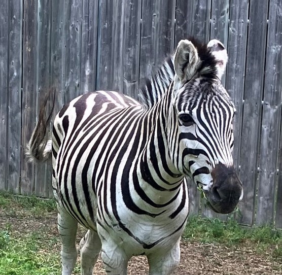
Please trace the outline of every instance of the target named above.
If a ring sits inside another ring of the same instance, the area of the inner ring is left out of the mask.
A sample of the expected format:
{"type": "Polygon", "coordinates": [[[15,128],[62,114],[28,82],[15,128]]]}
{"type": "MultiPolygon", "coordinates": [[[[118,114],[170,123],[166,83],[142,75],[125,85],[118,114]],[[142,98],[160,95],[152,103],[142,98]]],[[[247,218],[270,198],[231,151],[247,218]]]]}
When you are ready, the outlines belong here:
{"type": "Polygon", "coordinates": [[[92,275],[101,250],[101,241],[96,231],[88,230],[80,241],[81,274],[92,275]]]}

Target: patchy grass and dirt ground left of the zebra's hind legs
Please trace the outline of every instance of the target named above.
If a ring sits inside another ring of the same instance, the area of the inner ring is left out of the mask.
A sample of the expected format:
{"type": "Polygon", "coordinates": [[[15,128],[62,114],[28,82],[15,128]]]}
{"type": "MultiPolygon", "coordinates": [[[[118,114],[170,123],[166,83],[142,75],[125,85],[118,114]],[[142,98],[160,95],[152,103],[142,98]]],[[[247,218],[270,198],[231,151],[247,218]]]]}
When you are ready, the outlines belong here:
{"type": "Polygon", "coordinates": [[[0,193],[0,275],[61,274],[56,217],[53,199],[0,193]]]}

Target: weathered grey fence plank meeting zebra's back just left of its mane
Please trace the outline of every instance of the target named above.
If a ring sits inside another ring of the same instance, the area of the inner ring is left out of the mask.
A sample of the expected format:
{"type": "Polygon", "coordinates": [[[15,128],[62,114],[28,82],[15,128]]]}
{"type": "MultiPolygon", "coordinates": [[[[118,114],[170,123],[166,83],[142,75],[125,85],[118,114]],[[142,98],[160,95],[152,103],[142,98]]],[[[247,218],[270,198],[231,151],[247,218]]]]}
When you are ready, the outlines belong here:
{"type": "Polygon", "coordinates": [[[123,1],[122,93],[138,97],[142,1],[123,1]]]}

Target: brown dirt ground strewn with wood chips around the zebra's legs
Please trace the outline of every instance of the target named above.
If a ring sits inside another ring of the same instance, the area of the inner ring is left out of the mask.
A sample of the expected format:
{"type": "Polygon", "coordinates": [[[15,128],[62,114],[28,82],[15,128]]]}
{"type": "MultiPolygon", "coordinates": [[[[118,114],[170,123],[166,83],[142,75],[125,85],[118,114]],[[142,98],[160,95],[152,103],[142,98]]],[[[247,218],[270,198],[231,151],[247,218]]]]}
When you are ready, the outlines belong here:
{"type": "MultiPolygon", "coordinates": [[[[12,230],[19,234],[43,228],[46,237],[54,238],[58,236],[56,227],[56,214],[50,213],[43,219],[18,218],[1,215],[0,228],[4,228],[9,223],[12,230]]],[[[79,239],[85,231],[79,230],[79,239]]],[[[54,250],[59,255],[60,243],[47,248],[54,250]]],[[[79,259],[78,259],[79,260],[79,259]]],[[[95,265],[94,274],[105,275],[101,260],[95,265]]],[[[134,257],[128,264],[128,274],[144,275],[149,273],[147,259],[144,256],[134,257]]],[[[273,259],[267,251],[258,253],[251,245],[242,244],[237,247],[225,247],[215,244],[199,244],[182,242],[181,262],[173,274],[282,274],[282,265],[273,259]]]]}

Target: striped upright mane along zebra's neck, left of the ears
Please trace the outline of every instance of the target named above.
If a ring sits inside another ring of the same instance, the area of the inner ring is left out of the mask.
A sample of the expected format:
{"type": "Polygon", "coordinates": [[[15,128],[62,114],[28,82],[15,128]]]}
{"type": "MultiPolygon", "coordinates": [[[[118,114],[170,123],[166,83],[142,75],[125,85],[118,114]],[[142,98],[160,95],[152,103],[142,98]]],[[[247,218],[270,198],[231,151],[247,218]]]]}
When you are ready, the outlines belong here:
{"type": "Polygon", "coordinates": [[[145,86],[139,90],[139,100],[146,109],[152,108],[165,93],[174,77],[173,57],[168,56],[155,75],[146,78],[145,86]]]}

